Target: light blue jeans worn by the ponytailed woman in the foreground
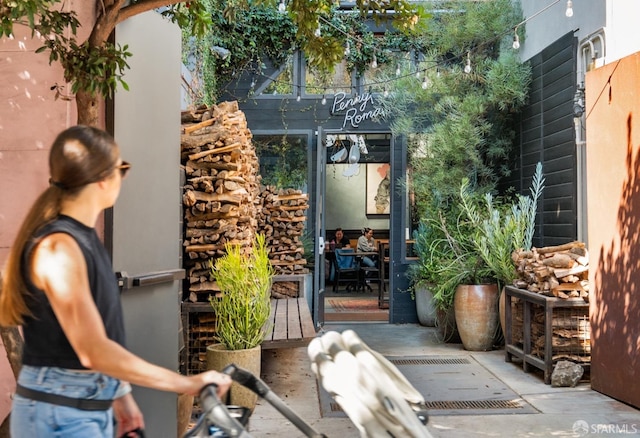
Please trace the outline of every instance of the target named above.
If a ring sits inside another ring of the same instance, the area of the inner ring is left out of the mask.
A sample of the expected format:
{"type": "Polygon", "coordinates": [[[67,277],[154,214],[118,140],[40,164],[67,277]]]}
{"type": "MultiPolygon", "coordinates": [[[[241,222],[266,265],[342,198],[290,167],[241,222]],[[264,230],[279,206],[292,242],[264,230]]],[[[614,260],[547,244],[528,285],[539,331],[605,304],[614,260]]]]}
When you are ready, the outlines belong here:
{"type": "MultiPolygon", "coordinates": [[[[119,381],[102,373],[25,365],[18,383],[26,388],[67,397],[112,400],[119,381]]],[[[83,411],[16,395],[11,409],[11,436],[113,438],[113,409],[83,411]]]]}

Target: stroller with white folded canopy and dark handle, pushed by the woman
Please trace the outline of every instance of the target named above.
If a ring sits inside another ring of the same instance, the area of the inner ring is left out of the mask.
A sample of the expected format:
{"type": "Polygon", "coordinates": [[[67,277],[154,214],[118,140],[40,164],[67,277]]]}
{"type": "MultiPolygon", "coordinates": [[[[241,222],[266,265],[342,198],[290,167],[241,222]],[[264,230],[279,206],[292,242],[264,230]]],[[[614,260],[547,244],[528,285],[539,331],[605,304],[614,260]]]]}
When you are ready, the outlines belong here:
{"type": "MultiPolygon", "coordinates": [[[[424,398],[391,362],[371,350],[353,330],[346,330],[342,335],[327,332],[311,341],[307,352],[318,380],[358,428],[362,438],[431,438],[425,426],[428,416],[424,398]]],[[[223,372],[268,401],[305,436],[327,438],[287,406],[259,377],[233,364],[223,372]]],[[[203,414],[184,438],[251,438],[239,421],[242,413],[222,403],[215,385],[203,388],[200,403],[203,414]]]]}

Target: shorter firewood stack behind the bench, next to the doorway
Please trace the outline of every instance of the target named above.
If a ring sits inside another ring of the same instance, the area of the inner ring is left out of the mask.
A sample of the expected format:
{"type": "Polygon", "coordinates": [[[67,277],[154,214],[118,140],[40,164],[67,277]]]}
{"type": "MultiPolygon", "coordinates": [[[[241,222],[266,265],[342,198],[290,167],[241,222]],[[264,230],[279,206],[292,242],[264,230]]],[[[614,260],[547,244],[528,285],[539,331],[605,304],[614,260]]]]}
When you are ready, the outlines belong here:
{"type": "Polygon", "coordinates": [[[266,186],[261,191],[262,210],[258,228],[270,248],[269,259],[278,275],[309,272],[304,258],[302,235],[309,208],[308,195],[301,190],[266,186]]]}

